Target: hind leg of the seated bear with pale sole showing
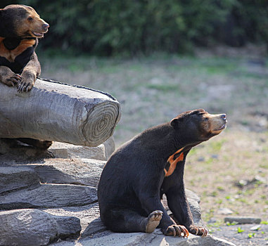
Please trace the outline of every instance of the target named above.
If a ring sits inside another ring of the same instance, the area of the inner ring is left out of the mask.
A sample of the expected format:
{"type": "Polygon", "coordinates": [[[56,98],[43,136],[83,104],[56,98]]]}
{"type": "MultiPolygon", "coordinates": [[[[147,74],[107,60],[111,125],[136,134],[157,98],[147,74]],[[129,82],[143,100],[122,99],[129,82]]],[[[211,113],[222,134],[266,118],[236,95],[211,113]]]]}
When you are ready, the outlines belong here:
{"type": "Polygon", "coordinates": [[[104,219],[106,226],[117,233],[152,233],[162,219],[162,211],[155,210],[148,217],[130,209],[112,209],[104,219]]]}

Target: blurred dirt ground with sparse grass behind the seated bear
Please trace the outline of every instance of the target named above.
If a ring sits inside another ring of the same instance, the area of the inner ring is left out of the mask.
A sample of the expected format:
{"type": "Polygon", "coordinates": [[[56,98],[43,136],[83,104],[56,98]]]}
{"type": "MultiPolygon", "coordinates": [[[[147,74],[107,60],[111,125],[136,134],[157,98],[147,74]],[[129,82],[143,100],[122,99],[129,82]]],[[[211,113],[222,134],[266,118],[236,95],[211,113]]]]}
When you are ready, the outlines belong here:
{"type": "MultiPolygon", "coordinates": [[[[226,113],[226,130],[191,150],[185,173],[186,188],[200,195],[203,219],[215,233],[230,230],[224,226],[225,216],[268,221],[268,60],[262,53],[231,54],[43,57],[41,77],[115,96],[122,105],[114,134],[117,146],[186,110],[226,113]]],[[[250,238],[248,234],[234,231],[244,237],[242,245],[268,242],[267,230],[250,238]]]]}

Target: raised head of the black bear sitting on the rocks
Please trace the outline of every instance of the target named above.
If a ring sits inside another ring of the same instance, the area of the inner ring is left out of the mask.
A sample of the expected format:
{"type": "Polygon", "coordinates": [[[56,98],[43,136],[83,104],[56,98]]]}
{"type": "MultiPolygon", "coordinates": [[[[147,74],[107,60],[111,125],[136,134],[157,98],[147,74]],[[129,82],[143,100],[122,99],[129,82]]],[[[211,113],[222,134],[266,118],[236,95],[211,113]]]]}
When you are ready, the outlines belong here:
{"type": "Polygon", "coordinates": [[[178,132],[180,141],[197,143],[207,141],[226,128],[226,115],[210,115],[203,109],[181,113],[171,120],[171,126],[178,132]]]}

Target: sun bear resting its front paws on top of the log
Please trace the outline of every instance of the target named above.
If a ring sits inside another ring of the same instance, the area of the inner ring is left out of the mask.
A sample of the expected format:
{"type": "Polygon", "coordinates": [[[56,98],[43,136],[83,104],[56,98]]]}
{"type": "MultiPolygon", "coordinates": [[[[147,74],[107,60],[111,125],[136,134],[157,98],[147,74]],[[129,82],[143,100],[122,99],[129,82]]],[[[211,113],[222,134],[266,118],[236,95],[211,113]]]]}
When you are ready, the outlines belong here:
{"type": "Polygon", "coordinates": [[[48,32],[49,24],[34,8],[8,5],[0,9],[0,81],[17,84],[18,91],[30,91],[41,72],[34,52],[38,39],[48,32]]]}

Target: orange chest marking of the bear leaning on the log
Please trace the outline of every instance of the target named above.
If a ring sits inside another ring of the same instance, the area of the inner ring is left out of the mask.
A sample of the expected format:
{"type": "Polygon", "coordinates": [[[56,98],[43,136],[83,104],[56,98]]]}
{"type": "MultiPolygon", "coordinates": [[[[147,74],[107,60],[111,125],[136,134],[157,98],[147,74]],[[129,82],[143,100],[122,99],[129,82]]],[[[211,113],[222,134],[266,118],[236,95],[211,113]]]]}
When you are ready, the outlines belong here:
{"type": "Polygon", "coordinates": [[[15,58],[19,56],[23,51],[27,48],[34,46],[35,40],[34,39],[23,39],[20,41],[20,44],[14,48],[13,50],[8,50],[6,46],[4,46],[4,38],[0,37],[0,56],[6,58],[10,63],[15,61],[15,58]]]}

